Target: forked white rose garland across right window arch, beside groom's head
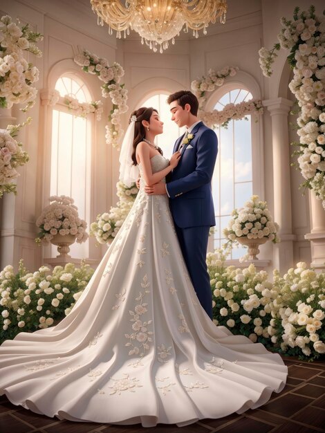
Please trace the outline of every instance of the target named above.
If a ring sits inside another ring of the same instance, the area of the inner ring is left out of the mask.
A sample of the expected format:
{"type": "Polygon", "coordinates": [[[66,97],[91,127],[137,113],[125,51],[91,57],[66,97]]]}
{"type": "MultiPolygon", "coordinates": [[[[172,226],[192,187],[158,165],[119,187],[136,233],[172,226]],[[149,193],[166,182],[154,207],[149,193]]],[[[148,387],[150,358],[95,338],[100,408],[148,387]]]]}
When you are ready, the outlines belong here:
{"type": "Polygon", "coordinates": [[[230,120],[239,120],[248,116],[248,114],[262,114],[263,107],[261,100],[249,100],[247,102],[240,102],[239,104],[227,104],[221,111],[205,111],[203,105],[207,101],[207,92],[215,91],[225,82],[227,77],[234,77],[238,71],[237,66],[226,66],[221,71],[214,71],[210,69],[202,80],[192,81],[191,87],[194,94],[198,98],[199,111],[198,116],[205,122],[208,127],[215,127],[221,125],[228,127],[230,120]]]}

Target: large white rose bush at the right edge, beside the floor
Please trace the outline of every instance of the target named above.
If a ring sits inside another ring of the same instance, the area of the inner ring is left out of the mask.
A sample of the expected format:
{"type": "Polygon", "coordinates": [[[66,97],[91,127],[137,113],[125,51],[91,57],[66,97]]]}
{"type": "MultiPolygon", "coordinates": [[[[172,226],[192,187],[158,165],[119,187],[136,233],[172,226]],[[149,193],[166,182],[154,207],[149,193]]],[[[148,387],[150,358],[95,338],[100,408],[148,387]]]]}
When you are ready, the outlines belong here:
{"type": "Polygon", "coordinates": [[[325,353],[325,274],[315,273],[304,262],[284,277],[274,274],[281,291],[277,302],[270,304],[273,341],[281,344],[283,353],[317,358],[325,353]]]}

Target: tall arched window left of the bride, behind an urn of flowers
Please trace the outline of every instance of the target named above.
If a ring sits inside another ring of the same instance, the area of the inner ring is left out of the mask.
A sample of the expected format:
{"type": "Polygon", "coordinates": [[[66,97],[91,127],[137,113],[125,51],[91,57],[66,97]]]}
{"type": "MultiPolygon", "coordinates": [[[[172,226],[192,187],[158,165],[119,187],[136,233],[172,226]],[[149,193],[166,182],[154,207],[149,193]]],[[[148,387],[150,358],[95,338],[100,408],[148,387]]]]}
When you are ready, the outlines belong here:
{"type": "MultiPolygon", "coordinates": [[[[79,102],[90,102],[89,90],[73,73],[59,77],[55,89],[60,96],[71,95],[79,102]]],[[[64,104],[57,103],[52,116],[52,138],[50,158],[50,195],[71,196],[78,208],[80,218],[90,225],[91,185],[91,129],[93,115],[88,118],[73,116],[64,104]]],[[[51,248],[51,257],[56,257],[57,248],[51,248]]],[[[89,242],[74,243],[71,257],[89,257],[89,242]]]]}

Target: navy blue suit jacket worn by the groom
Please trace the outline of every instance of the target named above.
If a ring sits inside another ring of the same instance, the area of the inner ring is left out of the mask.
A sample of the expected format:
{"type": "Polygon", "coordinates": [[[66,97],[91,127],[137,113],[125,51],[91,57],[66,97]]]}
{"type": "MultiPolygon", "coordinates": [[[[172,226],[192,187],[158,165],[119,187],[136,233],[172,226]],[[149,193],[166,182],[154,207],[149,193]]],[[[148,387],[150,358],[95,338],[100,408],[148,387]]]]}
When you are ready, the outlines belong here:
{"type": "MultiPolygon", "coordinates": [[[[218,140],[216,133],[203,122],[199,122],[191,133],[194,138],[184,145],[180,162],[167,183],[171,212],[180,228],[216,224],[211,180],[218,153],[218,140]]],[[[183,137],[176,140],[174,152],[183,137]]]]}

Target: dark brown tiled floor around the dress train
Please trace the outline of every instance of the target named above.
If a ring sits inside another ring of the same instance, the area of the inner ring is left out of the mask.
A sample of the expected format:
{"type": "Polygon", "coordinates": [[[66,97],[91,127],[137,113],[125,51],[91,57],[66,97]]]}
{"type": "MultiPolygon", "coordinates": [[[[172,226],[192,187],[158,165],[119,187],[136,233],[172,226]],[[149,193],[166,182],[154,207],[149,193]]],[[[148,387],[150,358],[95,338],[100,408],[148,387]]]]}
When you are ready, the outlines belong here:
{"type": "Polygon", "coordinates": [[[325,360],[284,358],[289,376],[280,394],[259,409],[226,418],[204,419],[187,427],[114,426],[71,423],[34,414],[0,397],[0,433],[309,433],[325,432],[325,360]]]}

